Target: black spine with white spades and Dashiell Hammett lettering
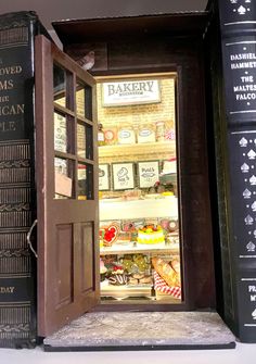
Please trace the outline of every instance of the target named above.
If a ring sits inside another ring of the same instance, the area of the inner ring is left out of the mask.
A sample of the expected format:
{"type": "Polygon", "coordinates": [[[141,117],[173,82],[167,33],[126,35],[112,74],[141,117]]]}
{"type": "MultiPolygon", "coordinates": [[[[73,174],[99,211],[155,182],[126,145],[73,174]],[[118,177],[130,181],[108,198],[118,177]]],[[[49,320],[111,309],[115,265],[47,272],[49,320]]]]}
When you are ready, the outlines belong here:
{"type": "Polygon", "coordinates": [[[256,342],[256,1],[219,0],[236,336],[256,342]]]}

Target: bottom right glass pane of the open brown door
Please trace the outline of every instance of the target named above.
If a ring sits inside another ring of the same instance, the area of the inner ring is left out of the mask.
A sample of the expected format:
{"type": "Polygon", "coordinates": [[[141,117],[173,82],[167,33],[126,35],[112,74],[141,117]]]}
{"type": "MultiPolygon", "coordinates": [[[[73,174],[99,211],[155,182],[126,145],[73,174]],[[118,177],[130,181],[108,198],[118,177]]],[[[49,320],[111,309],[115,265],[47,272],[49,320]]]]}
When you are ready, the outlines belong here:
{"type": "Polygon", "coordinates": [[[93,167],[90,164],[78,164],[78,199],[93,200],[93,167]]]}

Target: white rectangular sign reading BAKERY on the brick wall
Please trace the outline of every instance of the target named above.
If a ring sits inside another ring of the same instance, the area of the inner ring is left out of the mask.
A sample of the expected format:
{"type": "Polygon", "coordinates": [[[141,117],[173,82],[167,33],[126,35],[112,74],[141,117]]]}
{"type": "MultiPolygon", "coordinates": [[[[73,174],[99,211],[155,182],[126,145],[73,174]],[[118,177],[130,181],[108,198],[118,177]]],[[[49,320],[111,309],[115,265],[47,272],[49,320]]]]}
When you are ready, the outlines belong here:
{"type": "Polygon", "coordinates": [[[102,84],[102,105],[121,106],[161,101],[157,79],[138,79],[102,84]]]}

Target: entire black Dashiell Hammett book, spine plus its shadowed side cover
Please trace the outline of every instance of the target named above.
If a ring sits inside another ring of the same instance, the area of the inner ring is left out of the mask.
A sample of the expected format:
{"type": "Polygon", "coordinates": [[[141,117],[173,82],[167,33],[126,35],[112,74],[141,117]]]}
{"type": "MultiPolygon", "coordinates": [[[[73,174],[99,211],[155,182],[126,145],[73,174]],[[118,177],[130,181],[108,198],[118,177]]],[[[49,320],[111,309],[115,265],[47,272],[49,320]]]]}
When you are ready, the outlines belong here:
{"type": "Polygon", "coordinates": [[[241,341],[256,342],[256,4],[212,3],[222,315],[241,341]]]}

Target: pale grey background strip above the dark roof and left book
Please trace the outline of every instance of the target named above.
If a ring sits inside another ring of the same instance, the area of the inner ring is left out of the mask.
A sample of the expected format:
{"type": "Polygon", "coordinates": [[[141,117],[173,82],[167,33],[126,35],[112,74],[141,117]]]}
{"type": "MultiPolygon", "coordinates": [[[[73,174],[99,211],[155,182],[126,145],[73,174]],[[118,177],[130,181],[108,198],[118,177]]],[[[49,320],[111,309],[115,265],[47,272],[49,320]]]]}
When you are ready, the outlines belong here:
{"type": "Polygon", "coordinates": [[[0,13],[34,10],[43,25],[52,21],[204,10],[207,0],[0,0],[0,13]]]}

